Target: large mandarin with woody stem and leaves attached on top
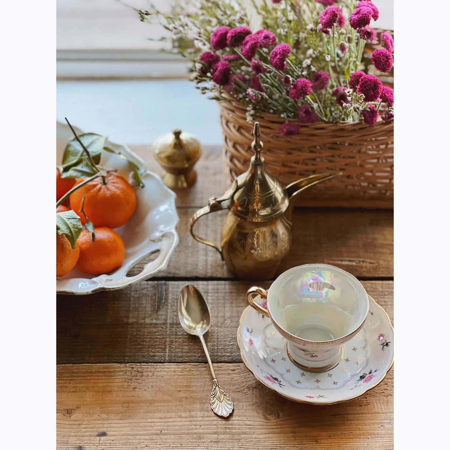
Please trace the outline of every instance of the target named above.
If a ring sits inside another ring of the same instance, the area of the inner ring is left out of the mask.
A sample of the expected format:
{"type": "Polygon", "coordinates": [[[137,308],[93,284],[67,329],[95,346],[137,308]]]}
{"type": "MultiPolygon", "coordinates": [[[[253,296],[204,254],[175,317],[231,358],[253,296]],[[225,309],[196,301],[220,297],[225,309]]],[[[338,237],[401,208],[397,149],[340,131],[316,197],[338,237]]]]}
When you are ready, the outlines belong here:
{"type": "MultiPolygon", "coordinates": [[[[70,194],[70,207],[77,214],[81,210],[83,197],[86,216],[98,227],[117,228],[125,224],[136,209],[136,193],[131,184],[111,172],[104,180],[101,176],[95,178],[70,194]]],[[[83,214],[81,223],[86,223],[83,214]]]]}

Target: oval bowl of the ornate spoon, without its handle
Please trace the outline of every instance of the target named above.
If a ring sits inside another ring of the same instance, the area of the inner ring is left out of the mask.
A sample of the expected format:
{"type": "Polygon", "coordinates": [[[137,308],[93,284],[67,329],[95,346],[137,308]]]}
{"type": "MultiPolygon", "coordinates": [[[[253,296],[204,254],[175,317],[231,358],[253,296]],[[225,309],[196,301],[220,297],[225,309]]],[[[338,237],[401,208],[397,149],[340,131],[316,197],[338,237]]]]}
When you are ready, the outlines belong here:
{"type": "Polygon", "coordinates": [[[199,336],[209,329],[211,318],[207,302],[192,284],[181,289],[178,297],[178,317],[186,333],[199,336]]]}

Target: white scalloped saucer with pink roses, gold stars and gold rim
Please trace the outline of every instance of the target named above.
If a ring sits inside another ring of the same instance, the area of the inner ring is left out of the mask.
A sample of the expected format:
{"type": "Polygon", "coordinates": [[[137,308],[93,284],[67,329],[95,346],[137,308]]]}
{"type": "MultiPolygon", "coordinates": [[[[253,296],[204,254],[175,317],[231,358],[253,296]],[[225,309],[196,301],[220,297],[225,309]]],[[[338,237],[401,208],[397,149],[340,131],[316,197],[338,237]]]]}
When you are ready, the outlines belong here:
{"type": "Polygon", "coordinates": [[[329,372],[311,373],[293,364],[284,337],[251,306],[238,328],[242,360],[258,381],[289,400],[330,405],[354,399],[380,383],[394,362],[391,321],[372,297],[369,300],[364,327],[344,344],[341,362],[329,372]]]}

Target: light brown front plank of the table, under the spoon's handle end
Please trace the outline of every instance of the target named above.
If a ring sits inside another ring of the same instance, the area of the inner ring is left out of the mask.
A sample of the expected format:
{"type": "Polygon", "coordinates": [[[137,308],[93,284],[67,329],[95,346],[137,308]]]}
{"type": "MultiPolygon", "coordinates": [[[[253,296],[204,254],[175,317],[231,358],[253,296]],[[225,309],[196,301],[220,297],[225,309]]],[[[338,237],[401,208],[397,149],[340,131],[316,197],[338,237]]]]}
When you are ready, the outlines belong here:
{"type": "Polygon", "coordinates": [[[315,406],[284,399],[243,364],[216,364],[234,401],[229,419],[209,406],[207,365],[59,365],[57,448],[393,448],[393,370],[355,400],[315,406]]]}

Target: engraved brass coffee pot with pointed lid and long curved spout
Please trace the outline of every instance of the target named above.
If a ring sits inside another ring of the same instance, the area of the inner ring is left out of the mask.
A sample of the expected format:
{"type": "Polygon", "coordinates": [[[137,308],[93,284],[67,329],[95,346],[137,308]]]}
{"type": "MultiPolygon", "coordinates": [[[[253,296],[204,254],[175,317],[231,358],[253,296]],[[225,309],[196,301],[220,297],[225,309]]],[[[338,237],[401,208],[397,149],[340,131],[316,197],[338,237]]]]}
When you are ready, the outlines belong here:
{"type": "Polygon", "coordinates": [[[266,171],[258,122],[253,135],[255,155],[247,172],[234,180],[223,197],[211,198],[207,207],[192,216],[190,230],[198,242],[214,247],[238,278],[266,280],[276,274],[291,247],[294,198],[309,186],[341,173],[311,175],[284,188],[266,171]],[[223,209],[229,209],[229,214],[222,226],[219,248],[194,234],[193,225],[200,217],[223,209]]]}

